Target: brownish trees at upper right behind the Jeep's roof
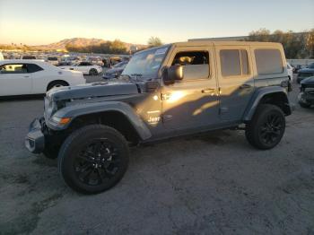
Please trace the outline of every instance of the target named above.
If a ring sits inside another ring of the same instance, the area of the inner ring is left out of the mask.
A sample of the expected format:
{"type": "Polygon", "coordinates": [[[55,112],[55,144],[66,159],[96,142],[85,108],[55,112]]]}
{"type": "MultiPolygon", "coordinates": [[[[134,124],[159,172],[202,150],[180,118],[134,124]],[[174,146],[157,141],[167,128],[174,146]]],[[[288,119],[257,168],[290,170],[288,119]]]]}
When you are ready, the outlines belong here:
{"type": "Polygon", "coordinates": [[[286,58],[314,58],[314,29],[301,33],[292,30],[282,31],[260,29],[251,31],[247,41],[269,41],[280,42],[286,58]]]}

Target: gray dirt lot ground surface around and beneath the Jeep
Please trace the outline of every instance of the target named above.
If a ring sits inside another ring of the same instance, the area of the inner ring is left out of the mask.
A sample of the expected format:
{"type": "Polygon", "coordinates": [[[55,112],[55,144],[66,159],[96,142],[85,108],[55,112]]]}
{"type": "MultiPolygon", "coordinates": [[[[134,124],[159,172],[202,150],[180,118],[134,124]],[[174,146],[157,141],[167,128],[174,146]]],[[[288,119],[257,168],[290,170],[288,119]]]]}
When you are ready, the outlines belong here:
{"type": "Polygon", "coordinates": [[[270,151],[241,131],[132,149],[125,178],[97,196],[76,194],[56,160],[24,148],[42,109],[0,102],[1,234],[314,234],[314,109],[297,106],[270,151]]]}

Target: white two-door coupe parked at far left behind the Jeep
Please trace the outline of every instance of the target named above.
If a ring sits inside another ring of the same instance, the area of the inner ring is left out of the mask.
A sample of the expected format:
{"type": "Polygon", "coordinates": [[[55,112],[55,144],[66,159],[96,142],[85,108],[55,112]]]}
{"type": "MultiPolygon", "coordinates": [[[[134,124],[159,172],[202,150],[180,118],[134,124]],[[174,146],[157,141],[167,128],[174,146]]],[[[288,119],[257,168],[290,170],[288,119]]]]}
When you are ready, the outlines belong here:
{"type": "Polygon", "coordinates": [[[83,74],[61,70],[38,60],[12,59],[0,61],[0,97],[42,94],[60,86],[86,83],[83,74]]]}

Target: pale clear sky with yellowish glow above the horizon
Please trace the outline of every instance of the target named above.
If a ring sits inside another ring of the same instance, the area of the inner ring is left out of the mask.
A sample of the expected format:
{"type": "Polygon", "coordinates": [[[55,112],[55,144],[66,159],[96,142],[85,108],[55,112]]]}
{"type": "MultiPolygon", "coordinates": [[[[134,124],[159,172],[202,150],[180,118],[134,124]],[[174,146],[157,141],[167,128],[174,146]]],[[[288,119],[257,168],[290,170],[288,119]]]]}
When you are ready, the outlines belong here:
{"type": "Polygon", "coordinates": [[[146,43],[314,28],[314,0],[0,0],[0,43],[82,37],[146,43]]]}

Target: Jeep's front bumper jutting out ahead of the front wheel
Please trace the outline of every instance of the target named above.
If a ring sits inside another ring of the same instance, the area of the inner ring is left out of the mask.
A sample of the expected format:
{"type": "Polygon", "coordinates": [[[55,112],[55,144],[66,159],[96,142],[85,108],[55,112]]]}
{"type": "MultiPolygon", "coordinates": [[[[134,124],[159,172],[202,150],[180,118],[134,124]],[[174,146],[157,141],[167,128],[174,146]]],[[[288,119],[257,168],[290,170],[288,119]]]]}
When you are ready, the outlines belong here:
{"type": "Polygon", "coordinates": [[[25,147],[33,153],[43,152],[45,149],[45,135],[42,133],[44,118],[34,119],[31,122],[29,133],[25,137],[25,147]]]}

